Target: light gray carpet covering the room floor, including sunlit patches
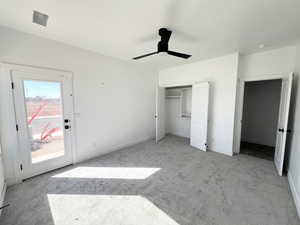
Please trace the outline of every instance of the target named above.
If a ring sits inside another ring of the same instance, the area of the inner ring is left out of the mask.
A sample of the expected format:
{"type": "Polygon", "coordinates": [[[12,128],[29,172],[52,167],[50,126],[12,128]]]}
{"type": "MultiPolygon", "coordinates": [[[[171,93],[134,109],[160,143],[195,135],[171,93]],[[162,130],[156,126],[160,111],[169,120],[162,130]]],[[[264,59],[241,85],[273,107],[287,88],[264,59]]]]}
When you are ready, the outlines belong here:
{"type": "Polygon", "coordinates": [[[1,225],[300,224],[272,162],[174,136],[32,178],[6,201],[1,225]]]}

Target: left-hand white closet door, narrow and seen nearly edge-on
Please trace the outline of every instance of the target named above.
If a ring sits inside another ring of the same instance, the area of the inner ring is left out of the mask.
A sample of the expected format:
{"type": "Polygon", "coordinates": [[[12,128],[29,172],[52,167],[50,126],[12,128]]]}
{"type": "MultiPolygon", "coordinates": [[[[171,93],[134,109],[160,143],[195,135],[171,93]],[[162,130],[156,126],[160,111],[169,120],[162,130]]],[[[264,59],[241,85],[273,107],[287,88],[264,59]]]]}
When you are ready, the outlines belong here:
{"type": "Polygon", "coordinates": [[[166,135],[165,130],[165,96],[166,90],[163,87],[157,87],[156,91],[156,143],[163,139],[166,135]]]}

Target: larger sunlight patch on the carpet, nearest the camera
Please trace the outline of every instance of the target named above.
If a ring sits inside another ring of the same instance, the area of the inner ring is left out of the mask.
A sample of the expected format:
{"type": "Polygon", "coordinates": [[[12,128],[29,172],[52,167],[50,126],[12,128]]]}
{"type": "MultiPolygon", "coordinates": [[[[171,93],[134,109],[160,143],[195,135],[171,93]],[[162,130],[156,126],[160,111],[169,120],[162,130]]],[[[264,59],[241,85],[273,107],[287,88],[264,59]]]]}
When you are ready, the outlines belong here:
{"type": "Polygon", "coordinates": [[[179,225],[142,196],[48,194],[47,197],[55,225],[179,225]]]}

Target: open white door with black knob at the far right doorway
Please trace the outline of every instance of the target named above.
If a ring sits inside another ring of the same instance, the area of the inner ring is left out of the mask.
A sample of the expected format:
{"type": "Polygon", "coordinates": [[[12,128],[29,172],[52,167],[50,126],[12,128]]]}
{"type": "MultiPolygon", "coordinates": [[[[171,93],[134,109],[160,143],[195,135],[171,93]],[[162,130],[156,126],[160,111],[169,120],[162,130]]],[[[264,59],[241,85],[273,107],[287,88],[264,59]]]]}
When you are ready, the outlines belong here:
{"type": "Polygon", "coordinates": [[[280,176],[282,176],[286,138],[287,138],[286,136],[288,133],[288,120],[289,120],[292,84],[293,84],[293,73],[291,73],[287,79],[283,79],[282,88],[281,88],[279,121],[278,121],[275,157],[274,157],[274,162],[278,170],[278,174],[280,176]]]}

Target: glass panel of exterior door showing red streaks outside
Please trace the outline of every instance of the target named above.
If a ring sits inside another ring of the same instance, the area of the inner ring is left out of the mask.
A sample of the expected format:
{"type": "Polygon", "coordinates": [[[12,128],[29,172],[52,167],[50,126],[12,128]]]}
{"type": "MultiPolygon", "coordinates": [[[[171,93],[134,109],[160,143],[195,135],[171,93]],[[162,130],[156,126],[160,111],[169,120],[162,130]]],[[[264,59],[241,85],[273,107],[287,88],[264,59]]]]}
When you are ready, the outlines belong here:
{"type": "Polygon", "coordinates": [[[61,83],[24,80],[23,85],[32,163],[63,156],[61,83]]]}

